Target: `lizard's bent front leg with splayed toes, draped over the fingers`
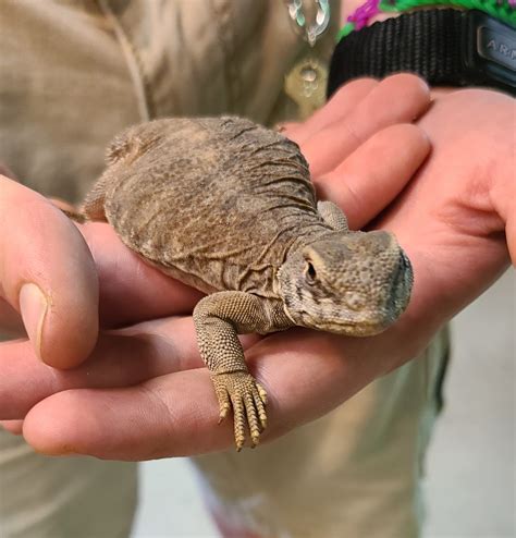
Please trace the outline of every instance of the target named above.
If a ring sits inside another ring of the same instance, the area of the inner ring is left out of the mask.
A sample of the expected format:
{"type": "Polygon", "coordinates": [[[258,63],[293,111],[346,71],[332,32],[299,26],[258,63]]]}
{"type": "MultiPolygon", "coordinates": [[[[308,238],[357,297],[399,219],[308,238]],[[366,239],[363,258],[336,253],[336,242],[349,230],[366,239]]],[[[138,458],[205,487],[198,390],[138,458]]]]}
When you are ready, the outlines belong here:
{"type": "Polygon", "coordinates": [[[220,420],[233,407],[236,449],[244,447],[246,425],[253,445],[257,445],[267,426],[267,392],[249,374],[237,333],[266,333],[292,322],[267,299],[226,291],[202,298],[194,309],[194,323],[219,400],[220,420]]]}

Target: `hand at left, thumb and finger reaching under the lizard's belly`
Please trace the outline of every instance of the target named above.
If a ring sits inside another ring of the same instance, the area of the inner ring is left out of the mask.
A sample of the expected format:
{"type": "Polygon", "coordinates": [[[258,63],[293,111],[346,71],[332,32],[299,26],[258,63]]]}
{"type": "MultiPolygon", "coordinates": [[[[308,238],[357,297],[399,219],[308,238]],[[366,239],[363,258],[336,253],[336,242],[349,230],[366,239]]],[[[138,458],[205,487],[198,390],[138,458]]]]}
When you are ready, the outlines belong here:
{"type": "Polygon", "coordinates": [[[65,369],[93,351],[99,310],[110,328],[192,309],[198,292],[145,265],[110,227],[77,229],[58,205],[0,175],[0,333],[28,334],[36,356],[65,369]]]}

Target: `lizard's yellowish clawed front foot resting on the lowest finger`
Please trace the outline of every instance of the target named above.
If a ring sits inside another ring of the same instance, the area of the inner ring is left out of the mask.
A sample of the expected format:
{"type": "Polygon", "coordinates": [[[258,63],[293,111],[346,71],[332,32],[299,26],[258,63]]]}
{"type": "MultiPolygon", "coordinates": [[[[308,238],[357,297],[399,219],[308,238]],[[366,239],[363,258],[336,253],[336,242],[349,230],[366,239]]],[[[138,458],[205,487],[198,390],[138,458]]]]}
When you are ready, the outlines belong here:
{"type": "Polygon", "coordinates": [[[236,450],[241,451],[249,427],[253,448],[260,442],[260,433],[267,427],[267,392],[246,371],[211,376],[219,400],[219,424],[233,407],[236,450]]]}

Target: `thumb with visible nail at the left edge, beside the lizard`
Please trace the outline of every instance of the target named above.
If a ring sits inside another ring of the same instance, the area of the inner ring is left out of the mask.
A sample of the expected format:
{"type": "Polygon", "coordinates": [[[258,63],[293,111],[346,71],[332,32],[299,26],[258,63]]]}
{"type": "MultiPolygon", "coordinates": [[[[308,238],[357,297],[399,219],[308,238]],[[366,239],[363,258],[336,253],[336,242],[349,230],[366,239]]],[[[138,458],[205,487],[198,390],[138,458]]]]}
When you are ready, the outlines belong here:
{"type": "Polygon", "coordinates": [[[20,314],[46,364],[70,368],[91,352],[98,279],[85,241],[50,201],[2,175],[0,299],[0,309],[20,314]]]}

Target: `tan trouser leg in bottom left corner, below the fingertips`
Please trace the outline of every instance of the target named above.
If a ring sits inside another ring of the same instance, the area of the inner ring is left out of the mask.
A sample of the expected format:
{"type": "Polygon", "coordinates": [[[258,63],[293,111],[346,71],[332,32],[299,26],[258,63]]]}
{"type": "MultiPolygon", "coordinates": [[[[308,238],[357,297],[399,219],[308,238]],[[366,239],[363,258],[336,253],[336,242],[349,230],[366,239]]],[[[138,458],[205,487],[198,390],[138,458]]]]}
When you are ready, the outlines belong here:
{"type": "Polygon", "coordinates": [[[136,464],[46,457],[0,430],[2,538],[124,538],[136,500],[136,464]]]}

